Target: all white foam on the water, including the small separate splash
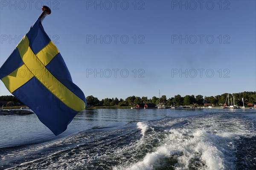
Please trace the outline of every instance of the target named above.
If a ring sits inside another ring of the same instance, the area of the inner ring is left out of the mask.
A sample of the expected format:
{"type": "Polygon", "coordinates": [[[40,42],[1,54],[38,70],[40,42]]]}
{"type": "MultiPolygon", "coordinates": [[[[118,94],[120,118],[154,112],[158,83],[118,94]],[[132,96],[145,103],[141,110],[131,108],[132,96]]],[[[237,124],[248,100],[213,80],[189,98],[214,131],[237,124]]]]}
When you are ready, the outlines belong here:
{"type": "MultiPolygon", "coordinates": [[[[255,131],[248,130],[250,128],[241,119],[231,119],[228,122],[230,125],[227,126],[226,119],[218,119],[215,116],[194,119],[191,122],[186,127],[164,130],[164,133],[169,134],[160,140],[160,146],[153,152],[147,153],[142,160],[134,164],[118,167],[116,170],[151,170],[157,165],[161,166],[161,158],[177,159],[177,170],[189,170],[195,164],[200,164],[200,170],[235,169],[234,140],[239,140],[241,136],[255,135],[255,131]]],[[[138,122],[137,127],[145,135],[148,125],[138,122]]]]}

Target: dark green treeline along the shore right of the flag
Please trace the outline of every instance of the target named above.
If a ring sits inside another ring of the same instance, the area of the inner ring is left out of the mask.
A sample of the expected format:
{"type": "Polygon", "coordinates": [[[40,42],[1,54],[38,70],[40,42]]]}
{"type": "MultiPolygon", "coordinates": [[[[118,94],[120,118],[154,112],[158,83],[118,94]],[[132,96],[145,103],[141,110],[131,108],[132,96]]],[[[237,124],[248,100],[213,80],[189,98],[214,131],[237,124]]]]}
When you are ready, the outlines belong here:
{"type": "MultiPolygon", "coordinates": [[[[235,98],[236,105],[243,105],[242,98],[244,97],[244,104],[247,103],[256,103],[256,92],[241,92],[241,93],[234,93],[229,94],[230,99],[233,96],[235,98]]],[[[153,96],[151,99],[148,99],[147,96],[138,97],[138,96],[129,96],[126,99],[118,99],[118,98],[106,98],[99,100],[97,97],[94,96],[87,96],[86,102],[88,106],[128,106],[128,105],[136,105],[139,103],[154,103],[157,105],[158,103],[165,103],[167,106],[171,105],[204,105],[204,103],[211,103],[213,105],[221,105],[226,102],[227,93],[217,95],[217,96],[202,96],[202,95],[186,95],[180,96],[179,94],[171,97],[169,99],[166,98],[165,95],[161,96],[160,99],[156,96],[153,96]]]]}

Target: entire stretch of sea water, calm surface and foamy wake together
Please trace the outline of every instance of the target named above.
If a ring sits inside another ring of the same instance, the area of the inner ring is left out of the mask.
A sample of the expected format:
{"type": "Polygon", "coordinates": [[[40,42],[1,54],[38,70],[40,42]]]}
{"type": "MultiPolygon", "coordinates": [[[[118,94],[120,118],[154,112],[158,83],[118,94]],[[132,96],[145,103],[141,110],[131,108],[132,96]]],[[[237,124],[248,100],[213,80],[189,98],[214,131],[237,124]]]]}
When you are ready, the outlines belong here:
{"type": "Polygon", "coordinates": [[[35,114],[0,116],[0,169],[255,167],[255,109],[88,109],[59,136],[35,114]]]}

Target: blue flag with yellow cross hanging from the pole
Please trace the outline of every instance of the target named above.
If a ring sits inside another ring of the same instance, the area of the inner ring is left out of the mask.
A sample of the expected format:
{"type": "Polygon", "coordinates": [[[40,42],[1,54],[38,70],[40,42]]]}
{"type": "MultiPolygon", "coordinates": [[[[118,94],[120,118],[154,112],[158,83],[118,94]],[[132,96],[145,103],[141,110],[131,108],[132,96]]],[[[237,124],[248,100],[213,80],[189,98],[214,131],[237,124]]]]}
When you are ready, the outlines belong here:
{"type": "Polygon", "coordinates": [[[0,79],[55,135],[86,105],[39,18],[0,68],[0,79]]]}

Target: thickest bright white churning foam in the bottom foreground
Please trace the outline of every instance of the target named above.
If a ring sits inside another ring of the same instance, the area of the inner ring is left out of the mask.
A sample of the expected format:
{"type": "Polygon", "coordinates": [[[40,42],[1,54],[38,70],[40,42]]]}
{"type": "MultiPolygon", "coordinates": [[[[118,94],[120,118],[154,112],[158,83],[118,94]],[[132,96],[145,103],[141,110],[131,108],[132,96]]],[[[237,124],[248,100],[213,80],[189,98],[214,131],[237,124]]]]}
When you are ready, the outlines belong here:
{"type": "MultiPolygon", "coordinates": [[[[182,135],[184,130],[170,130],[168,138],[164,139],[164,144],[157,147],[154,152],[147,153],[142,161],[138,161],[129,167],[117,168],[128,170],[151,170],[154,169],[154,165],[159,163],[160,158],[177,156],[178,163],[176,164],[177,170],[189,169],[189,163],[191,159],[195,159],[200,156],[201,161],[207,165],[203,169],[208,170],[221,170],[224,168],[223,154],[215,146],[211,146],[207,143],[202,143],[198,140],[186,139],[182,135]]],[[[186,130],[185,130],[186,131],[186,130]]],[[[205,131],[199,130],[198,134],[204,134],[205,131]]],[[[202,135],[201,135],[202,136],[202,135]]]]}

